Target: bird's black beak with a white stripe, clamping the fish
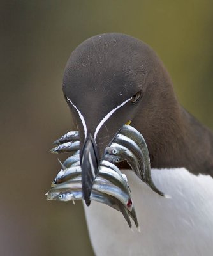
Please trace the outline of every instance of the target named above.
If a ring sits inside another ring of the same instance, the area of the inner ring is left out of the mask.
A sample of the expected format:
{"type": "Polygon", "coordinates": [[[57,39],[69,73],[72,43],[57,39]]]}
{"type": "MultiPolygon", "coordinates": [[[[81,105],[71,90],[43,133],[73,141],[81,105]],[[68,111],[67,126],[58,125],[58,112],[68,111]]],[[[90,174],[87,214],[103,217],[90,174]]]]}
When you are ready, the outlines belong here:
{"type": "Polygon", "coordinates": [[[85,203],[90,205],[90,195],[92,185],[99,167],[98,149],[92,135],[89,134],[84,141],[82,152],[80,154],[80,164],[82,167],[82,191],[85,203]]]}

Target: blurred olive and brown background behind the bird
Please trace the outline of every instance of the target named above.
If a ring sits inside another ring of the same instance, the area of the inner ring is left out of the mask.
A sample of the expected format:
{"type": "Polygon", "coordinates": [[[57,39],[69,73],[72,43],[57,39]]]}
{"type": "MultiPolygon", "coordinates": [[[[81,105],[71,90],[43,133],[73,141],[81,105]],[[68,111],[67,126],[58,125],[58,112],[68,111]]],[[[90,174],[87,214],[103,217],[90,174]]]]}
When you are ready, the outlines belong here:
{"type": "Polygon", "coordinates": [[[163,60],[180,103],[213,129],[213,1],[0,6],[0,255],[93,255],[82,203],[46,202],[44,195],[60,170],[52,141],[73,127],[61,90],[66,61],[98,33],[135,36],[163,60]]]}

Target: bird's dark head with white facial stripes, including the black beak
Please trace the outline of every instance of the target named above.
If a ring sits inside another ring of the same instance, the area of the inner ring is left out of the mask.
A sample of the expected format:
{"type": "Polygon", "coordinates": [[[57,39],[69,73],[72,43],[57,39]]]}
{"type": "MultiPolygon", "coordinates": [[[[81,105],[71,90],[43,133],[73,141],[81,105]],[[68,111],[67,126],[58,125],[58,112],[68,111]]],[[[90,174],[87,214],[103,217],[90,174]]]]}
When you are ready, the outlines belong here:
{"type": "Polygon", "coordinates": [[[105,148],[122,125],[134,120],[144,93],[149,94],[153,58],[151,49],[140,40],[109,33],[85,40],[68,60],[62,89],[80,135],[87,205],[105,148]]]}

